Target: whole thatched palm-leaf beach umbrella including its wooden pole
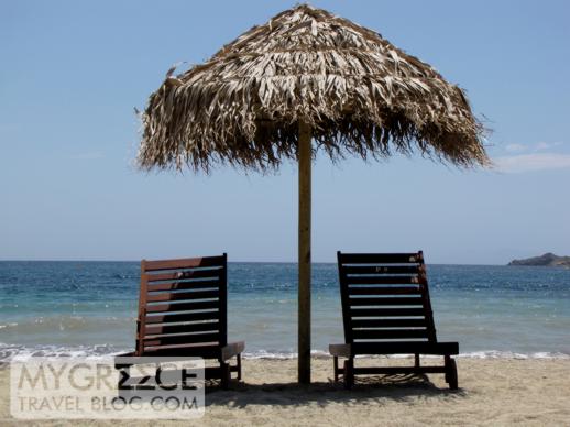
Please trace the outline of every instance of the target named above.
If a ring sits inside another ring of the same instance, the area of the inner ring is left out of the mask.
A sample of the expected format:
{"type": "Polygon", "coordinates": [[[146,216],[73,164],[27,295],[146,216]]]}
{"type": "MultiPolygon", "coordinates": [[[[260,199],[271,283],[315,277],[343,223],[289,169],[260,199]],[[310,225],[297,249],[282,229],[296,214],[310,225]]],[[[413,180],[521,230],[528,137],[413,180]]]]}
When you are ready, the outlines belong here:
{"type": "Polygon", "coordinates": [[[254,26],[201,65],[171,69],[150,97],[141,167],[299,164],[299,382],[310,382],[310,168],[322,149],[421,154],[484,165],[482,127],[463,91],[374,31],[298,6],[254,26]],[[311,140],[315,144],[311,144],[311,140]]]}

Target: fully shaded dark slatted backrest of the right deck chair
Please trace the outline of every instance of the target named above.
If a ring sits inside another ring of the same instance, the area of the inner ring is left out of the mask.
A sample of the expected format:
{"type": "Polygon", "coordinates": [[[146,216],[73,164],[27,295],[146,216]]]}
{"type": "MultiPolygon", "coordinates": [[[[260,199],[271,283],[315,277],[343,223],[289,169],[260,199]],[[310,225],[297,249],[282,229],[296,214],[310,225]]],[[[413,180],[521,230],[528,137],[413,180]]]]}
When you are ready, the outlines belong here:
{"type": "Polygon", "coordinates": [[[421,251],[337,256],[347,343],[437,340],[421,251]]]}

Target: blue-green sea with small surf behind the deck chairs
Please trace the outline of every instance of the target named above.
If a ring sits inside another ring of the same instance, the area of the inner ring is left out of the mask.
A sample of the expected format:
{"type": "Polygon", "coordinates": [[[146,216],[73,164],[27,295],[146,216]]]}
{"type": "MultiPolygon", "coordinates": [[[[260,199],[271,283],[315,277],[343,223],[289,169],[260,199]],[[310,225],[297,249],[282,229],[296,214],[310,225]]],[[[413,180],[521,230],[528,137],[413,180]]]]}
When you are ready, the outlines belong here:
{"type": "MultiPolygon", "coordinates": [[[[245,357],[294,358],[297,264],[230,263],[228,338],[245,357]]],[[[570,270],[428,265],[438,339],[461,357],[570,358],[570,270]]],[[[134,348],[138,262],[0,262],[0,362],[134,348]]],[[[343,342],[336,264],[313,264],[316,357],[343,342]]]]}

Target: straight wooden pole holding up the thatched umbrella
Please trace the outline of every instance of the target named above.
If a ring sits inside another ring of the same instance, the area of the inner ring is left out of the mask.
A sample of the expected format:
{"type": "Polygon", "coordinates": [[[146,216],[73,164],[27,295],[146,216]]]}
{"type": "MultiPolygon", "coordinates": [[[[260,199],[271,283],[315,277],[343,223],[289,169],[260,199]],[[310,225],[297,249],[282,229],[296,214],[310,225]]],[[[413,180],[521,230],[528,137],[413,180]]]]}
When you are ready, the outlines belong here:
{"type": "Polygon", "coordinates": [[[310,383],[310,125],[299,122],[298,380],[300,384],[310,383]]]}

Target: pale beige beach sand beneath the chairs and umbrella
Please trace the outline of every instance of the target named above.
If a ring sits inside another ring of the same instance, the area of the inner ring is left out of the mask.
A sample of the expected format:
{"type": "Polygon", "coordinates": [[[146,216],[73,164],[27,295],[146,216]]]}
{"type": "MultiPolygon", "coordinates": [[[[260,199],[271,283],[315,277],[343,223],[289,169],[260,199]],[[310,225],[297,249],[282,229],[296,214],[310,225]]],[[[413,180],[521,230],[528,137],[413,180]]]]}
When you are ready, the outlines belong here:
{"type": "MultiPolygon", "coordinates": [[[[407,363],[382,359],[375,363],[407,363]]],[[[359,364],[364,364],[360,361],[359,364]]],[[[0,370],[0,425],[199,426],[570,426],[570,360],[458,359],[459,386],[443,375],[369,377],[352,391],[333,384],[332,361],[313,361],[314,384],[294,383],[296,360],[244,360],[245,382],[211,387],[204,418],[176,421],[21,421],[10,417],[8,370],[0,370]]]]}

